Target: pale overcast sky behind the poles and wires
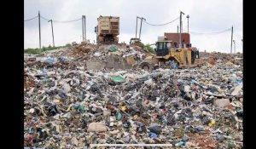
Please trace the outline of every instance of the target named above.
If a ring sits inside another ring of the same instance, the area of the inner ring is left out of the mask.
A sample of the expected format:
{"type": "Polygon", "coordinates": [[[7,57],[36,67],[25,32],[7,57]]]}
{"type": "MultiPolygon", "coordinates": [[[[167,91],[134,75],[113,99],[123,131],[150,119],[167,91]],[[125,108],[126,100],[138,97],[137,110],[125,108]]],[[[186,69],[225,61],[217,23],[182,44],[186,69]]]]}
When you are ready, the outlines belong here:
{"type": "MultiPolygon", "coordinates": [[[[231,30],[234,26],[236,52],[242,52],[242,0],[25,0],[24,19],[38,15],[52,20],[77,20],[86,15],[86,33],[90,42],[96,41],[94,27],[99,15],[120,17],[119,42],[129,43],[135,37],[136,17],[148,23],[164,24],[183,11],[183,32],[188,30],[193,46],[201,51],[230,52],[231,30]],[[194,32],[194,33],[192,33],[194,32]],[[222,32],[209,34],[209,32],[222,32]],[[202,34],[198,34],[202,33],[202,34]]],[[[55,46],[82,40],[82,20],[71,23],[54,22],[55,46]]],[[[177,32],[179,20],[166,26],[149,26],[143,22],[143,43],[155,43],[164,32],[177,32]]],[[[24,22],[24,48],[38,48],[38,18],[24,22]]],[[[52,45],[51,26],[41,19],[42,46],[52,45]]],[[[234,45],[233,45],[234,47],[234,45]]]]}

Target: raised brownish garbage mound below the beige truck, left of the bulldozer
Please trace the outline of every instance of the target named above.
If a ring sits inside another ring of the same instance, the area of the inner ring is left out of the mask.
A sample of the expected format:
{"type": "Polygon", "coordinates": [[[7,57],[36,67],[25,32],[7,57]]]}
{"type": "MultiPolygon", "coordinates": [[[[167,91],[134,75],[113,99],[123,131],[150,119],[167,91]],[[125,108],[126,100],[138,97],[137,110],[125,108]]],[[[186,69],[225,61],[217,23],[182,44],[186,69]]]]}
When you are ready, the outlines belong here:
{"type": "Polygon", "coordinates": [[[83,67],[85,70],[131,69],[145,59],[150,53],[138,46],[125,44],[96,45],[79,44],[67,50],[44,53],[36,56],[36,60],[27,60],[25,66],[52,65],[54,67],[83,67]],[[70,61],[73,61],[70,63],[70,61]]]}

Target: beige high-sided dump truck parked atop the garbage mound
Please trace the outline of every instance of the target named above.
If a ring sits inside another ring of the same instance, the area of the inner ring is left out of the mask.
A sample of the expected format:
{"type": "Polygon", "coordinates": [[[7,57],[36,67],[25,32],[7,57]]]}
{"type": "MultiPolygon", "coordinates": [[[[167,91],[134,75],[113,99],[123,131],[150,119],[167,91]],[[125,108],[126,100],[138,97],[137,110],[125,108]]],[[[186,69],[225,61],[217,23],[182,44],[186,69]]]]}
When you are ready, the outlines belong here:
{"type": "Polygon", "coordinates": [[[119,17],[101,15],[97,21],[96,43],[119,43],[119,17]]]}

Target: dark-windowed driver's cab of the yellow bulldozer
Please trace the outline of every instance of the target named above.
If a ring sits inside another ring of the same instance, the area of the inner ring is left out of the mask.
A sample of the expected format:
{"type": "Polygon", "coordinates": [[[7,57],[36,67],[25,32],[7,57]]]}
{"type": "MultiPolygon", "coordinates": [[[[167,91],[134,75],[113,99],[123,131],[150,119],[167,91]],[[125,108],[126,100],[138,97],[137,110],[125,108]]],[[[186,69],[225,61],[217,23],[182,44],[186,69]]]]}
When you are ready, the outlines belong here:
{"type": "Polygon", "coordinates": [[[172,47],[172,41],[158,41],[155,43],[155,54],[156,56],[166,56],[170,54],[172,47]]]}

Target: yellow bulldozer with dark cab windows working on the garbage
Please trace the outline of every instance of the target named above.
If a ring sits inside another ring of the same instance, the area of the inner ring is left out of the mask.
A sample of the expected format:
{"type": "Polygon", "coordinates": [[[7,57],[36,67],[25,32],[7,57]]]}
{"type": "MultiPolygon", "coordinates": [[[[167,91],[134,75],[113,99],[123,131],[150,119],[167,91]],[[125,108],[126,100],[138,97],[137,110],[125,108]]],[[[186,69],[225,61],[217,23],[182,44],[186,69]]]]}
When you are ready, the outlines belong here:
{"type": "Polygon", "coordinates": [[[177,43],[163,39],[155,43],[155,54],[146,57],[138,66],[144,70],[167,66],[169,68],[192,68],[201,65],[199,51],[195,47],[177,48],[177,43]]]}

